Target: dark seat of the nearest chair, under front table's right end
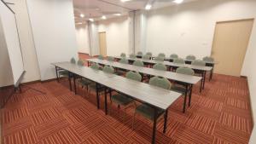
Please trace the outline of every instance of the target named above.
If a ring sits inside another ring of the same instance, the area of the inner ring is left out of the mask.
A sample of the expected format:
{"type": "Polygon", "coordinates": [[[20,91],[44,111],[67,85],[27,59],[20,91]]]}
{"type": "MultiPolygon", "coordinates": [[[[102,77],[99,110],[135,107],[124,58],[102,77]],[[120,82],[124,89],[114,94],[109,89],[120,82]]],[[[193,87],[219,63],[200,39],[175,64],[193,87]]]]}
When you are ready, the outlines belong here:
{"type": "MultiPolygon", "coordinates": [[[[140,105],[136,107],[135,110],[137,113],[140,113],[143,115],[143,117],[148,118],[150,120],[154,120],[154,108],[149,107],[148,105],[140,105]]],[[[164,110],[158,108],[158,117],[160,116],[161,113],[165,112],[164,110]]]]}

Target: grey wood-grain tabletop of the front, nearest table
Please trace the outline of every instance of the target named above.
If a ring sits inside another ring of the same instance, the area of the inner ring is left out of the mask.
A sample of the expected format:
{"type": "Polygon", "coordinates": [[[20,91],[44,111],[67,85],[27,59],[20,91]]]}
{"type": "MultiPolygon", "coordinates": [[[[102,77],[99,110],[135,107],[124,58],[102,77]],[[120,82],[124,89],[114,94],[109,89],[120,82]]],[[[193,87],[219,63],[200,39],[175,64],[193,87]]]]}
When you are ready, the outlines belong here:
{"type": "Polygon", "coordinates": [[[137,82],[114,74],[108,74],[90,67],[78,66],[70,62],[58,62],[52,65],[60,67],[69,72],[75,73],[83,78],[88,78],[98,84],[115,89],[125,95],[130,95],[138,101],[143,101],[154,107],[166,110],[182,94],[172,90],[137,82]]]}

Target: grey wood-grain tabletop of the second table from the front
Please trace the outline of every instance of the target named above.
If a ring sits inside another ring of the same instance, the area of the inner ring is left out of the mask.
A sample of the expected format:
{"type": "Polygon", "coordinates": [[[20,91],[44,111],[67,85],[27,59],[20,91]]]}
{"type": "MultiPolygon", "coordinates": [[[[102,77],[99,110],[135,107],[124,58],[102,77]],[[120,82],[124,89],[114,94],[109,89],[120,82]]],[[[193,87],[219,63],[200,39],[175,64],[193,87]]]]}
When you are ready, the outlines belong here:
{"type": "Polygon", "coordinates": [[[189,76],[189,75],[185,75],[177,72],[160,71],[160,70],[155,70],[153,68],[148,68],[148,67],[122,64],[116,61],[99,60],[99,59],[87,59],[87,60],[89,60],[90,62],[96,62],[98,64],[113,66],[113,67],[129,70],[129,71],[141,72],[141,73],[149,74],[152,76],[160,76],[163,78],[172,79],[172,80],[183,82],[186,84],[196,84],[201,80],[201,77],[197,77],[197,76],[189,76]]]}

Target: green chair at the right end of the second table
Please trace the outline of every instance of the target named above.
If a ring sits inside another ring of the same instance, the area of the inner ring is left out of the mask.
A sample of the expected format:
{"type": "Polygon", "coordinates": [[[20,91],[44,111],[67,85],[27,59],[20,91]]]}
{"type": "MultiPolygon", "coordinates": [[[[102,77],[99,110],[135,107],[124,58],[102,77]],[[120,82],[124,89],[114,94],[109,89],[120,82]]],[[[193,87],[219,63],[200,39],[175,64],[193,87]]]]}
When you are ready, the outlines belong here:
{"type": "MultiPolygon", "coordinates": [[[[195,74],[195,72],[189,68],[189,67],[178,67],[176,70],[177,73],[181,73],[181,74],[185,74],[185,75],[191,75],[193,76],[195,74]]],[[[176,91],[178,93],[183,94],[184,97],[184,102],[183,102],[183,112],[185,112],[186,109],[186,104],[187,104],[187,95],[189,94],[189,103],[191,100],[191,90],[192,86],[182,83],[182,82],[175,82],[175,84],[172,85],[172,90],[176,91]]],[[[190,105],[190,104],[189,104],[190,105]]]]}

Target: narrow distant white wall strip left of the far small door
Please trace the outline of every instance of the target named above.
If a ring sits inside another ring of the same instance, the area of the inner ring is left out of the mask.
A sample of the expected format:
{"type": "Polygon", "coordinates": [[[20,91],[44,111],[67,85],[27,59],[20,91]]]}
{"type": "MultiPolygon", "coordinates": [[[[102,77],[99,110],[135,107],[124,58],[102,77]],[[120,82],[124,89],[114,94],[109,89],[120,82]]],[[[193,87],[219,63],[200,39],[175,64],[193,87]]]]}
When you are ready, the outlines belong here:
{"type": "Polygon", "coordinates": [[[88,25],[77,25],[76,26],[76,37],[79,47],[79,53],[90,54],[90,43],[88,25]]]}

